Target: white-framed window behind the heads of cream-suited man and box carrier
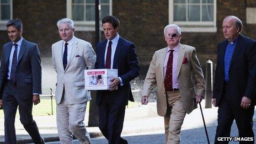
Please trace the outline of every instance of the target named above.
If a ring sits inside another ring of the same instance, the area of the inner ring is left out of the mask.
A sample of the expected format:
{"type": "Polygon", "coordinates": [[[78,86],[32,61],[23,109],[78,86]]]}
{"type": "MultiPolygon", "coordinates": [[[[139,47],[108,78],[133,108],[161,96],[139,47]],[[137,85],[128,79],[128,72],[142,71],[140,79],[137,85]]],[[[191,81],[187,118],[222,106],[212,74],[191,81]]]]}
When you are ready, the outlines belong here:
{"type": "MultiPolygon", "coordinates": [[[[100,0],[100,19],[111,15],[112,0],[100,0]]],[[[95,0],[67,0],[67,18],[74,20],[76,30],[94,31],[95,0]]]]}

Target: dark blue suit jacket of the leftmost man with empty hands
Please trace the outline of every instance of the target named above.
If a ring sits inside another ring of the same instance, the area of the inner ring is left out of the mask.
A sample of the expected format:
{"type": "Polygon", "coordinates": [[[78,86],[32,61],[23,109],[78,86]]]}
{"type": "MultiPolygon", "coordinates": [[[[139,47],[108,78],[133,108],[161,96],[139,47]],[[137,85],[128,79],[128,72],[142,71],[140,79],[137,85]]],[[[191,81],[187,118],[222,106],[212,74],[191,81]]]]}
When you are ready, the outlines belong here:
{"type": "MultiPolygon", "coordinates": [[[[7,80],[8,65],[12,41],[3,45],[0,67],[0,99],[7,80]]],[[[23,39],[17,60],[17,93],[20,99],[33,98],[33,93],[41,94],[41,59],[38,45],[23,39]]]]}

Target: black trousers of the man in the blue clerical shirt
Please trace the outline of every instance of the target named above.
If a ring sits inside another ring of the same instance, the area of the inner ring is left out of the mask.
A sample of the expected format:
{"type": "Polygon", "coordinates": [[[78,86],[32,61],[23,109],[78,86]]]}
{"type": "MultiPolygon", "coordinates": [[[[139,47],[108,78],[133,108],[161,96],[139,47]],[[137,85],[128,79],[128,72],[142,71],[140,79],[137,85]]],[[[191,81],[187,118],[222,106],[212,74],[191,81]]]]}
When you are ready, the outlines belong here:
{"type": "MultiPolygon", "coordinates": [[[[253,114],[254,106],[243,109],[232,103],[229,84],[225,83],[222,98],[218,105],[218,126],[216,129],[215,143],[228,143],[228,141],[218,141],[218,137],[229,137],[233,120],[236,120],[239,137],[253,137],[253,114]]],[[[240,141],[239,143],[254,143],[254,141],[240,141]]]]}

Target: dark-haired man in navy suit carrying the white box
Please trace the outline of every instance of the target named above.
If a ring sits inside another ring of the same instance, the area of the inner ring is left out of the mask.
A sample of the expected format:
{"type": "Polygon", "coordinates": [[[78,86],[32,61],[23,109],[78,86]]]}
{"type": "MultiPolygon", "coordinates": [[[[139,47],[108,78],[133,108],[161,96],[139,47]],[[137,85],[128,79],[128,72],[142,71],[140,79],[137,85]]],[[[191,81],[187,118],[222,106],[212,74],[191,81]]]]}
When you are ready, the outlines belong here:
{"type": "Polygon", "coordinates": [[[106,40],[97,44],[95,69],[118,69],[118,77],[111,79],[110,90],[97,90],[99,129],[109,143],[127,143],[120,137],[125,105],[128,104],[128,100],[134,102],[130,81],[138,76],[140,66],[135,45],[118,34],[118,18],[106,16],[102,20],[102,27],[106,40]]]}

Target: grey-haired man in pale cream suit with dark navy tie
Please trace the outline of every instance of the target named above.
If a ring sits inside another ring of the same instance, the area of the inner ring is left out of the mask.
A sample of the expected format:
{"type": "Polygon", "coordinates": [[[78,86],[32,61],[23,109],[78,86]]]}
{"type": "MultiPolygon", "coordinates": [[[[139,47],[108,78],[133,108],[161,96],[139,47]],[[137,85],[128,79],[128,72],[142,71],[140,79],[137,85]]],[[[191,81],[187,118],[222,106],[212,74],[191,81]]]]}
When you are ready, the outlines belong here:
{"type": "Polygon", "coordinates": [[[84,89],[84,70],[94,68],[96,55],[92,45],[74,36],[74,22],[65,18],[57,22],[62,40],[52,45],[52,62],[57,73],[57,129],[61,143],[91,143],[84,126],[90,93],[84,89]]]}

